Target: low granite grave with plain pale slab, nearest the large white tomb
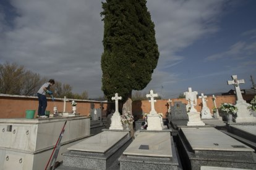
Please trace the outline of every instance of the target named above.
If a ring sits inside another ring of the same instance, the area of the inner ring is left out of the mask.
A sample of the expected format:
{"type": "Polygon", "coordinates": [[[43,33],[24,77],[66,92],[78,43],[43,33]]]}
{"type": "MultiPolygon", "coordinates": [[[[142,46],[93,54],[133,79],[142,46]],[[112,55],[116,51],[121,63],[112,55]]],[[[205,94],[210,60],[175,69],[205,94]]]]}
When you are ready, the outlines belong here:
{"type": "Polygon", "coordinates": [[[114,169],[130,142],[129,132],[103,131],[69,147],[61,169],[114,169]]]}

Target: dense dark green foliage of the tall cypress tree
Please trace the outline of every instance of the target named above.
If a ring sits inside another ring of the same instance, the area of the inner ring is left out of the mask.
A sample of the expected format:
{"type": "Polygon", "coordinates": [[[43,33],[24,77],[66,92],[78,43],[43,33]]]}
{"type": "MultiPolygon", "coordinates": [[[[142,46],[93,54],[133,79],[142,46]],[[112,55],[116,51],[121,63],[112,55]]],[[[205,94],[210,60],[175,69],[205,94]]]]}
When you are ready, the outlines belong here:
{"type": "Polygon", "coordinates": [[[102,90],[108,100],[117,92],[124,102],[132,90],[142,90],[151,80],[159,52],[155,25],[145,0],[106,0],[104,52],[101,56],[102,90]]]}

